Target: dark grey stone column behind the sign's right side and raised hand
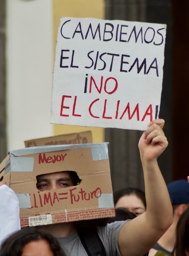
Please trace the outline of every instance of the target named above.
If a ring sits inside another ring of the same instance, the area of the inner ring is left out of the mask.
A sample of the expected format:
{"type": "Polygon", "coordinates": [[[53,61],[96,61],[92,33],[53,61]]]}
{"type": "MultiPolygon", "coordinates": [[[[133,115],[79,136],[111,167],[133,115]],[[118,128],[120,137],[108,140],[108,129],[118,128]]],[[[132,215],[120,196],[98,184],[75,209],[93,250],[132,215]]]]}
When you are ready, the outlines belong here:
{"type": "MultiPolygon", "coordinates": [[[[168,23],[165,49],[163,92],[159,118],[166,120],[165,133],[169,148],[159,159],[166,182],[172,180],[171,155],[171,1],[170,0],[106,0],[105,19],[168,23]]],[[[137,130],[105,129],[105,140],[110,144],[109,158],[113,190],[137,187],[144,190],[143,170],[140,162],[138,141],[142,132],[137,130]]]]}

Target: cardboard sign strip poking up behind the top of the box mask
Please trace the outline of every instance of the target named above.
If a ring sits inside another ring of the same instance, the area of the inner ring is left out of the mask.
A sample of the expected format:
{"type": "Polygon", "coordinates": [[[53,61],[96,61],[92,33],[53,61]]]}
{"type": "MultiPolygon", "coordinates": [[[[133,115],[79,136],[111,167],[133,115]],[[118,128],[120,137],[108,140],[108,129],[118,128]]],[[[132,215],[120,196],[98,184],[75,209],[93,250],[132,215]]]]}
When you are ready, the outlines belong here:
{"type": "Polygon", "coordinates": [[[52,137],[45,137],[33,140],[24,141],[25,147],[35,147],[35,146],[48,146],[48,145],[64,145],[64,144],[85,144],[93,143],[91,131],[78,132],[70,134],[62,134],[52,137]]]}

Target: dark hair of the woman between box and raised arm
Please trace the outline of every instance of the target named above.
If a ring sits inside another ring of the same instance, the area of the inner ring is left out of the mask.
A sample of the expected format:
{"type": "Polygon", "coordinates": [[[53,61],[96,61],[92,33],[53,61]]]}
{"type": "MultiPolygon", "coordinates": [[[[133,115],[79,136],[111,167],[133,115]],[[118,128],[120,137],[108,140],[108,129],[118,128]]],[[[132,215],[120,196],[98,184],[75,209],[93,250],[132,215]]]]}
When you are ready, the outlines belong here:
{"type": "Polygon", "coordinates": [[[125,195],[136,195],[139,199],[141,199],[141,201],[143,202],[144,206],[146,207],[146,197],[145,197],[145,193],[140,190],[139,188],[122,188],[118,191],[116,191],[113,194],[113,199],[114,199],[114,203],[116,204],[119,200],[119,198],[121,198],[122,196],[125,195]]]}

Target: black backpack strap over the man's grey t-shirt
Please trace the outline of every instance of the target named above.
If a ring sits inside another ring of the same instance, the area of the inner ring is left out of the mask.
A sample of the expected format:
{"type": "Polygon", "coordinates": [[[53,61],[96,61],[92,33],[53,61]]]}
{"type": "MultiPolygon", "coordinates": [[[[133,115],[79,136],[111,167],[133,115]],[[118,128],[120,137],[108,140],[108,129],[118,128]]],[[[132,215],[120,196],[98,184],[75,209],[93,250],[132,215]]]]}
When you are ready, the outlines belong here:
{"type": "Polygon", "coordinates": [[[77,228],[77,233],[88,256],[106,256],[96,228],[77,228]]]}

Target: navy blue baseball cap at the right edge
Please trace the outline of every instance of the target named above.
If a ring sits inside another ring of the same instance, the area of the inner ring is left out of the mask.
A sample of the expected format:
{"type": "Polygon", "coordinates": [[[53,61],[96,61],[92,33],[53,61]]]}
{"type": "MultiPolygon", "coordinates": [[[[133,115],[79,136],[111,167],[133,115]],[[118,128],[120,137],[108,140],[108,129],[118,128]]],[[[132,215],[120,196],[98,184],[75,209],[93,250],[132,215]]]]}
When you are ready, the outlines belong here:
{"type": "Polygon", "coordinates": [[[170,182],[167,189],[172,204],[189,203],[189,183],[187,180],[180,179],[170,182]]]}

